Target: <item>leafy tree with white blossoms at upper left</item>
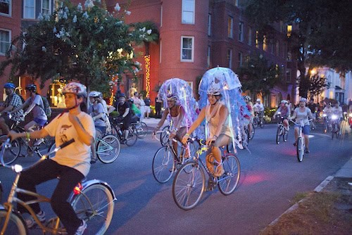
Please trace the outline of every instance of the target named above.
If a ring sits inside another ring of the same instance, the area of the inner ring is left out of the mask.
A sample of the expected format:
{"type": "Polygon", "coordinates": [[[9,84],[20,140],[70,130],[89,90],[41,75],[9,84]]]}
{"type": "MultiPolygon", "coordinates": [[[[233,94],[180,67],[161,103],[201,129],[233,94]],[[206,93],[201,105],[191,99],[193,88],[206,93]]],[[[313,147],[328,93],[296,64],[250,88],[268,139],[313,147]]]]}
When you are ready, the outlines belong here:
{"type": "MultiPolygon", "coordinates": [[[[115,11],[120,11],[118,4],[115,11]]],[[[139,68],[132,44],[141,42],[146,32],[125,24],[126,15],[128,11],[114,18],[92,0],[84,9],[62,1],[52,15],[39,15],[39,23],[13,40],[15,51],[8,53],[0,72],[12,65],[11,77],[27,73],[40,77],[42,84],[59,76],[94,88],[108,86],[111,76],[139,68]]]]}

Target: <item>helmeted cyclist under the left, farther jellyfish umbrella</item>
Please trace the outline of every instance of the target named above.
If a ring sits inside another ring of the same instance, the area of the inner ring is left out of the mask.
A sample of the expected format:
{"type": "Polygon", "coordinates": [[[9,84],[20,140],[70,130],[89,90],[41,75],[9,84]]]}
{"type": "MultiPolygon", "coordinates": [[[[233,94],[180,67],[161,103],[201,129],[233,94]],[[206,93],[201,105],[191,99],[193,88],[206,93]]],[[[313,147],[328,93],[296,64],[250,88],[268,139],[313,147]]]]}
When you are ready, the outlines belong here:
{"type": "MultiPolygon", "coordinates": [[[[187,122],[185,118],[184,108],[177,103],[177,95],[176,94],[168,94],[167,102],[168,108],[163,112],[163,116],[161,117],[160,122],[156,125],[154,132],[157,132],[160,127],[163,126],[166,117],[170,114],[173,126],[170,134],[170,139],[175,138],[177,141],[182,141],[182,137],[187,132],[187,122]]],[[[172,146],[177,153],[177,142],[172,142],[172,146]]],[[[185,154],[185,158],[189,158],[189,150],[187,148],[187,143],[183,143],[183,146],[186,147],[187,151],[185,154]]]]}

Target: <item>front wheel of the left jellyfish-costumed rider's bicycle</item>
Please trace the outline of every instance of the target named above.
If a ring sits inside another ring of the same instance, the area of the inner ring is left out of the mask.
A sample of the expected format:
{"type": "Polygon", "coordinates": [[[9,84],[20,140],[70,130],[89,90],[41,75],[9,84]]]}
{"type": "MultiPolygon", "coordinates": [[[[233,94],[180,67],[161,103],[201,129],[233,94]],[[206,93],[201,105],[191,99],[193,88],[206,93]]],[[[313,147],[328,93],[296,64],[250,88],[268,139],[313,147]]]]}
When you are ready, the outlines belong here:
{"type": "Polygon", "coordinates": [[[157,182],[164,184],[168,182],[175,171],[174,155],[167,146],[161,147],[156,151],[151,165],[153,177],[157,182]]]}

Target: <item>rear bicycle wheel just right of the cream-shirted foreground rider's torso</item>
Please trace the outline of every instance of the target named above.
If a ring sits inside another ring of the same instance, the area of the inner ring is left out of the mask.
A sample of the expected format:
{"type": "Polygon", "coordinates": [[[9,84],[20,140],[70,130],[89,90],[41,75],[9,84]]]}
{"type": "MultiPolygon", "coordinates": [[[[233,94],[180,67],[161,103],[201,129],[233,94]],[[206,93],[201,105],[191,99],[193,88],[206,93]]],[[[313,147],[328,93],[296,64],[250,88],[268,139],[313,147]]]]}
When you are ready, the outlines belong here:
{"type": "Polygon", "coordinates": [[[120,150],[120,141],[112,134],[103,136],[96,144],[96,156],[101,160],[101,163],[113,163],[120,155],[120,150]]]}

